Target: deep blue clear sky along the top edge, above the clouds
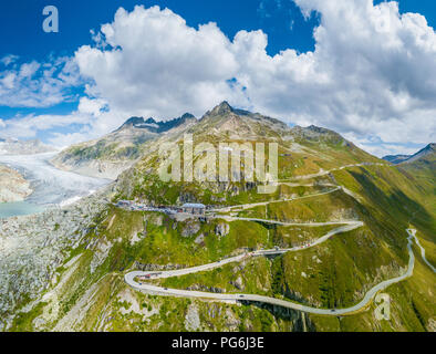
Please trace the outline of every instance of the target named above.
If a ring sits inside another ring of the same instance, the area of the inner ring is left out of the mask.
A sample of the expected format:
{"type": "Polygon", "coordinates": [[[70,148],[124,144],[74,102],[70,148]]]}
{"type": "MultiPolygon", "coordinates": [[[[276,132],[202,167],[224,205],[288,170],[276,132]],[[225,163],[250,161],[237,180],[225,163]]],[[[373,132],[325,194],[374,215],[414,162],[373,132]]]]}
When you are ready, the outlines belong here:
{"type": "MultiPolygon", "coordinates": [[[[270,54],[288,48],[301,52],[313,50],[313,27],[319,23],[316,18],[305,21],[299,8],[286,0],[3,1],[0,55],[15,54],[23,60],[44,60],[52,53],[71,55],[80,45],[91,43],[90,30],[98,30],[101,24],[111,22],[120,7],[133,10],[136,4],[167,7],[193,27],[215,21],[229,38],[241,29],[262,29],[269,35],[270,54]],[[55,35],[41,30],[41,12],[48,4],[54,4],[60,11],[60,33],[55,35]]],[[[436,24],[436,2],[433,0],[399,0],[399,9],[402,12],[422,13],[430,25],[436,24]]]]}

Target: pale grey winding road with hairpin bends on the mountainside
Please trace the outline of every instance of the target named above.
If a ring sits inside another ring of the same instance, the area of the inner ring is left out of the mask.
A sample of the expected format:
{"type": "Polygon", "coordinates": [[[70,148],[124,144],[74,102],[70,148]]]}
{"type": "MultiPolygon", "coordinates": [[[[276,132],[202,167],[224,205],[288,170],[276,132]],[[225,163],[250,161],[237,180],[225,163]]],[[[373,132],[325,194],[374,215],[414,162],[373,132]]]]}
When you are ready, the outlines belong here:
{"type": "MultiPolygon", "coordinates": [[[[318,173],[318,174],[308,175],[308,176],[299,176],[299,177],[295,177],[294,179],[310,179],[310,178],[328,175],[333,170],[341,170],[341,169],[344,169],[347,167],[364,166],[364,165],[365,164],[349,165],[349,166],[343,166],[343,167],[335,168],[335,169],[332,169],[329,171],[321,169],[320,173],[318,173]]],[[[366,165],[368,165],[368,164],[366,164],[366,165]]],[[[370,165],[388,166],[388,165],[384,165],[384,164],[370,164],[370,165]]],[[[292,185],[292,186],[294,186],[294,185],[292,185]]],[[[341,186],[338,186],[336,188],[325,191],[325,192],[320,192],[320,194],[310,195],[310,196],[303,196],[300,198],[292,198],[292,199],[286,199],[286,200],[273,200],[273,201],[249,204],[249,205],[240,205],[240,206],[217,209],[216,211],[233,211],[233,209],[236,209],[236,208],[249,209],[249,208],[253,208],[257,206],[266,206],[266,205],[269,205],[272,202],[291,201],[291,200],[295,200],[295,199],[311,198],[311,197],[315,197],[315,196],[326,195],[326,194],[331,194],[333,191],[341,190],[341,189],[344,190],[346,194],[350,194],[351,196],[354,197],[354,194],[352,194],[350,190],[347,190],[341,186]]],[[[346,309],[316,309],[316,308],[312,308],[312,306],[298,304],[298,303],[294,303],[291,301],[286,301],[286,300],[270,298],[270,296],[263,296],[263,295],[209,293],[209,292],[201,292],[201,291],[168,289],[168,288],[163,288],[163,287],[136,281],[137,278],[168,279],[168,278],[175,278],[175,277],[183,277],[183,275],[187,275],[187,274],[210,271],[210,270],[220,268],[222,266],[233,263],[233,262],[240,262],[242,260],[253,258],[253,257],[280,256],[280,254],[288,253],[288,252],[297,252],[302,249],[308,249],[308,248],[312,248],[318,244],[321,244],[321,243],[325,242],[326,240],[329,240],[334,235],[352,231],[354,229],[357,229],[357,228],[364,226],[364,223],[362,221],[338,221],[338,222],[329,221],[329,222],[300,223],[300,222],[282,222],[282,221],[277,221],[277,220],[263,220],[263,219],[257,219],[257,218],[238,218],[238,217],[230,217],[230,216],[217,216],[215,218],[221,218],[221,219],[226,219],[229,221],[232,221],[232,220],[259,221],[259,222],[274,223],[274,225],[281,225],[281,226],[304,226],[304,227],[320,227],[320,226],[330,226],[330,225],[342,225],[342,226],[331,230],[326,235],[322,236],[321,238],[319,238],[315,241],[308,243],[305,246],[300,246],[300,247],[294,247],[294,248],[289,248],[289,249],[276,248],[276,249],[270,249],[270,250],[259,250],[259,251],[253,251],[253,252],[247,252],[245,254],[231,257],[231,258],[218,261],[218,262],[203,264],[203,266],[193,267],[193,268],[179,269],[179,270],[163,271],[163,272],[133,271],[133,272],[125,274],[125,277],[124,277],[125,282],[129,287],[132,287],[133,289],[143,291],[146,293],[150,293],[150,294],[158,294],[158,295],[165,295],[165,296],[179,296],[179,298],[209,299],[209,300],[215,300],[215,301],[235,302],[235,303],[243,302],[243,301],[259,302],[259,303],[268,303],[271,305],[282,306],[282,308],[287,308],[287,309],[291,309],[291,310],[302,311],[305,313],[338,316],[338,315],[353,314],[353,313],[366,308],[380,291],[383,291],[386,288],[388,288],[395,283],[402,282],[413,275],[414,267],[415,267],[415,256],[414,256],[413,248],[412,248],[413,240],[415,240],[416,244],[419,247],[421,254],[422,254],[424,262],[435,272],[435,268],[425,258],[425,249],[421,246],[421,243],[416,237],[416,230],[407,229],[407,233],[408,233],[407,250],[408,250],[408,254],[409,254],[409,260],[408,260],[407,270],[404,272],[404,274],[376,284],[375,287],[373,287],[372,289],[370,289],[365,293],[365,295],[361,302],[359,302],[354,306],[346,308],[346,309]]]]}

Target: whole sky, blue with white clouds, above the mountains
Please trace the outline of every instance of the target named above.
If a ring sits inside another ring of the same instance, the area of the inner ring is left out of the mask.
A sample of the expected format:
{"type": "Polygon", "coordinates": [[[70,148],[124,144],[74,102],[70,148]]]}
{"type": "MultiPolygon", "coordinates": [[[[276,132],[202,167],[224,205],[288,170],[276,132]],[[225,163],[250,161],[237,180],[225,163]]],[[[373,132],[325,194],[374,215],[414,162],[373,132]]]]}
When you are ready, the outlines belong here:
{"type": "Polygon", "coordinates": [[[0,4],[0,136],[65,147],[129,116],[228,101],[412,154],[436,132],[430,0],[14,0],[0,4]],[[59,32],[42,10],[55,6],[59,32]]]}

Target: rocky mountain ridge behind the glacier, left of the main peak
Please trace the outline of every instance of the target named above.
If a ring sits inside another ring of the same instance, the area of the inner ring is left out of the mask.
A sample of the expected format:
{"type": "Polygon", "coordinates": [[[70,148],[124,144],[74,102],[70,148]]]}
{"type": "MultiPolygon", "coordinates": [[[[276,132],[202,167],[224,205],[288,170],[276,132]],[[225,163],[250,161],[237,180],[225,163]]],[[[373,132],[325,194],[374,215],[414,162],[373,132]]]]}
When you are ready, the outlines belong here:
{"type": "Polygon", "coordinates": [[[51,163],[61,169],[81,175],[116,179],[141,156],[146,142],[197,122],[194,115],[157,122],[154,118],[131,117],[120,128],[104,137],[61,152],[51,163]]]}

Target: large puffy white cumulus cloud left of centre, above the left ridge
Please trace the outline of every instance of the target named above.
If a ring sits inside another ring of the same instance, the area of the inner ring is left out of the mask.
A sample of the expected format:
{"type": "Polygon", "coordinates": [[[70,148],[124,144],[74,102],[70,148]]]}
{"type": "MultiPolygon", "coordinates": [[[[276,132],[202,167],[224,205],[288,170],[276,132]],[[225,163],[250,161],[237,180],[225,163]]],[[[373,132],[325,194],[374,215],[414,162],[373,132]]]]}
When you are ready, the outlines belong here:
{"type": "Polygon", "coordinates": [[[239,70],[231,42],[215,23],[189,28],[170,10],[120,9],[102,27],[106,50],[82,46],[76,52],[81,73],[95,85],[89,92],[104,97],[112,110],[131,115],[203,114],[233,96],[227,80],[239,70]]]}

